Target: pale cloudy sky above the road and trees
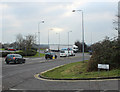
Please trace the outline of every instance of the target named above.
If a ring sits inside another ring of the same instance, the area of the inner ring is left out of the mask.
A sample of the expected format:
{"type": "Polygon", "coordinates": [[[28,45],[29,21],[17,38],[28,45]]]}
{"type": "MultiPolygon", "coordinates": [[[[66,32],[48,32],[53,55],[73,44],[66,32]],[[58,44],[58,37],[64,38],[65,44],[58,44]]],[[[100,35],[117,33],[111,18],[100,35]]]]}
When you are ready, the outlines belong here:
{"type": "Polygon", "coordinates": [[[114,30],[113,20],[118,13],[117,1],[38,1],[5,0],[0,3],[0,42],[12,43],[16,41],[17,34],[23,37],[36,35],[38,43],[38,31],[40,31],[40,43],[74,44],[82,42],[82,10],[84,20],[84,40],[91,44],[102,41],[106,36],[117,36],[114,30]],[[42,23],[44,21],[44,23],[42,23]],[[38,30],[39,25],[39,30],[38,30]],[[72,32],[70,32],[72,31],[72,32]]]}

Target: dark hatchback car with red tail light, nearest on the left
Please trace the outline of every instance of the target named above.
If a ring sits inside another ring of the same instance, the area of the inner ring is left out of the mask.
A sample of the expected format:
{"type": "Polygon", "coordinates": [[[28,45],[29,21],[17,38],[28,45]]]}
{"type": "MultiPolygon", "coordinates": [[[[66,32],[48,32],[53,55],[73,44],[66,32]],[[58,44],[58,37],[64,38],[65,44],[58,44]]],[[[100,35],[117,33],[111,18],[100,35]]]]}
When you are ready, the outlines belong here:
{"type": "Polygon", "coordinates": [[[7,64],[9,63],[25,63],[25,59],[20,54],[8,54],[5,58],[7,64]]]}

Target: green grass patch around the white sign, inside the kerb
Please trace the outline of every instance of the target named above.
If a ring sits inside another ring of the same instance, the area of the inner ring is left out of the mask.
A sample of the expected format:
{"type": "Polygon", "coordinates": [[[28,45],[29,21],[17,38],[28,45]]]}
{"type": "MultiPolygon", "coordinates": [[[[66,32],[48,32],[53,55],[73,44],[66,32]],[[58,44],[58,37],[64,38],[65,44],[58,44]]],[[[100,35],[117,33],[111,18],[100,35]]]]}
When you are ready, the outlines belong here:
{"type": "Polygon", "coordinates": [[[55,68],[41,75],[46,78],[97,78],[97,77],[117,77],[120,76],[120,70],[87,72],[87,61],[75,62],[55,68]]]}

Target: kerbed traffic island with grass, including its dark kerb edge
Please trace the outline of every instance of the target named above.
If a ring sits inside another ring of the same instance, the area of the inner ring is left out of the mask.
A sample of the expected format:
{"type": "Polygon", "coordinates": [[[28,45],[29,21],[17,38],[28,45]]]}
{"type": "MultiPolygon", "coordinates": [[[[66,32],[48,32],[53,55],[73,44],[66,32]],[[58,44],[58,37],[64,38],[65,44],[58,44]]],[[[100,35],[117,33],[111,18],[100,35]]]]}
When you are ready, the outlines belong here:
{"type": "Polygon", "coordinates": [[[111,71],[86,71],[87,61],[75,62],[38,74],[39,78],[47,80],[101,80],[101,79],[120,79],[120,69],[111,71]]]}

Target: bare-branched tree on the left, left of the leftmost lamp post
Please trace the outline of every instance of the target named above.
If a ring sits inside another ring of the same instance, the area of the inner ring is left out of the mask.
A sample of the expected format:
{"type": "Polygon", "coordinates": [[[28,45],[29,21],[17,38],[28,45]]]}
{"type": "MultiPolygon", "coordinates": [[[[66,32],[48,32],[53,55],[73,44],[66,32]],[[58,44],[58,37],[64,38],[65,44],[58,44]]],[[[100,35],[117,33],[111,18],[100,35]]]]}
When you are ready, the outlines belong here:
{"type": "Polygon", "coordinates": [[[35,36],[27,35],[23,38],[21,34],[16,36],[16,44],[18,44],[18,48],[22,50],[21,54],[26,56],[33,56],[37,53],[37,49],[33,47],[35,44],[35,36]]]}

